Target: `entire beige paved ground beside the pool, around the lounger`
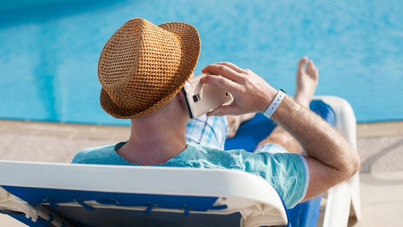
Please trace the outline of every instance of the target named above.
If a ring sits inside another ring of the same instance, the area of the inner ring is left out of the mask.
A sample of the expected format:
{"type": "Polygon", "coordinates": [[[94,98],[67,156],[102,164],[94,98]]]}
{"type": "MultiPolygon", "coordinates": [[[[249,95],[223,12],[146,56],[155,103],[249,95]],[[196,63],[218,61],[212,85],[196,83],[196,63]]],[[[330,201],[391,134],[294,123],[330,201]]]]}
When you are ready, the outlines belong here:
{"type": "MultiPolygon", "coordinates": [[[[351,219],[349,226],[400,226],[403,122],[359,124],[357,129],[362,219],[351,219]]],[[[80,149],[128,136],[128,127],[0,121],[0,159],[69,163],[80,149]]],[[[0,226],[24,225],[0,214],[0,226]]]]}

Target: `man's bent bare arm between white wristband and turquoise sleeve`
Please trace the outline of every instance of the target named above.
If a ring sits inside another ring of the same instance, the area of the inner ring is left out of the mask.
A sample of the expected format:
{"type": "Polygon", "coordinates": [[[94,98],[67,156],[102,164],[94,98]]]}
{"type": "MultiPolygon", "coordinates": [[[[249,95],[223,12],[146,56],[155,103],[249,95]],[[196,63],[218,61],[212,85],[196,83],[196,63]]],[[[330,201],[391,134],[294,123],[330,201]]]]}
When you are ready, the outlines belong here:
{"type": "Polygon", "coordinates": [[[346,140],[312,111],[285,97],[271,117],[297,141],[308,156],[309,186],[305,199],[349,179],[358,171],[357,152],[346,140]]]}

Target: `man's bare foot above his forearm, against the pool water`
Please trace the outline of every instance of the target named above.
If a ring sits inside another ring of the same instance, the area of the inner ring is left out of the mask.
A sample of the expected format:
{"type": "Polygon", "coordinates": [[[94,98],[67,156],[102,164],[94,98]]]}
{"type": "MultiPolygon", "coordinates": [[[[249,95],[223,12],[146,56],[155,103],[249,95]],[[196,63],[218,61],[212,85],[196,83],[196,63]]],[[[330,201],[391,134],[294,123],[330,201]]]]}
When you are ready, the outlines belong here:
{"type": "Polygon", "coordinates": [[[319,72],[312,60],[302,57],[297,68],[297,89],[294,99],[299,104],[309,107],[318,86],[319,72]]]}

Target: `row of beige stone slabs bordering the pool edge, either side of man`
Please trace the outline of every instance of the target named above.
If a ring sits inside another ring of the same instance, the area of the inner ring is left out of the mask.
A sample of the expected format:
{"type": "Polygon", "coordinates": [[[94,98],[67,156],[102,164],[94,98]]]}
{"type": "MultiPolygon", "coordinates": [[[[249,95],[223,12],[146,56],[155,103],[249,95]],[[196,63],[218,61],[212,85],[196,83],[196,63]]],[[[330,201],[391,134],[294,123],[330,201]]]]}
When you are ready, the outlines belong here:
{"type": "MultiPolygon", "coordinates": [[[[359,123],[360,172],[403,171],[403,121],[359,123]]],[[[66,163],[80,150],[130,137],[128,126],[0,120],[0,157],[66,163]]]]}

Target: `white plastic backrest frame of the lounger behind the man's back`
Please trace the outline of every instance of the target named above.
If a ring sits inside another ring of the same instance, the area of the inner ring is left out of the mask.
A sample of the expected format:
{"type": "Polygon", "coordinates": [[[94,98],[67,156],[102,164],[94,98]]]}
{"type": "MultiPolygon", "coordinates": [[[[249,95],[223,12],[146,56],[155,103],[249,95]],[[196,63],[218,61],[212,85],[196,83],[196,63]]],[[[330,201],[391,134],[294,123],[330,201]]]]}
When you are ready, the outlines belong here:
{"type": "MultiPolygon", "coordinates": [[[[241,226],[271,226],[288,223],[283,202],[274,188],[264,179],[236,170],[190,169],[178,167],[127,167],[113,165],[73,165],[57,163],[27,163],[0,161],[0,185],[24,188],[90,191],[94,193],[135,193],[141,195],[178,195],[197,198],[217,198],[213,207],[197,212],[192,209],[165,209],[156,207],[122,207],[95,201],[58,203],[59,207],[95,209],[133,209],[152,212],[181,212],[194,214],[232,214],[239,212],[241,226]]],[[[23,212],[36,220],[48,220],[52,212],[48,198],[43,204],[33,205],[15,198],[0,187],[0,210],[23,212]],[[48,212],[48,213],[47,213],[48,212]]],[[[50,198],[51,201],[52,198],[50,198]]],[[[51,203],[51,202],[50,202],[51,203]]],[[[52,204],[50,204],[52,205],[52,204]]],[[[56,213],[56,212],[55,212],[56,213]]],[[[52,214],[55,226],[68,226],[62,216],[52,214]],[[61,224],[62,223],[62,224],[61,224]]]]}

